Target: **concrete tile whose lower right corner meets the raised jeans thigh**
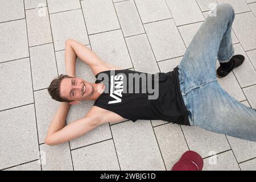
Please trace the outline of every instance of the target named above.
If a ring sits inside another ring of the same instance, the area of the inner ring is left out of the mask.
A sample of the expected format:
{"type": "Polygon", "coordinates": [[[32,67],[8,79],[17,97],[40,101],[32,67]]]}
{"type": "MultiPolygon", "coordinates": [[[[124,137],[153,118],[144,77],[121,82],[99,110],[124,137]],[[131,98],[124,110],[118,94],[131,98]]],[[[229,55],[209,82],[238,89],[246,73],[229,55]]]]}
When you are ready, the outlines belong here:
{"type": "Polygon", "coordinates": [[[144,24],[156,61],[183,56],[185,46],[173,19],[144,24]]]}

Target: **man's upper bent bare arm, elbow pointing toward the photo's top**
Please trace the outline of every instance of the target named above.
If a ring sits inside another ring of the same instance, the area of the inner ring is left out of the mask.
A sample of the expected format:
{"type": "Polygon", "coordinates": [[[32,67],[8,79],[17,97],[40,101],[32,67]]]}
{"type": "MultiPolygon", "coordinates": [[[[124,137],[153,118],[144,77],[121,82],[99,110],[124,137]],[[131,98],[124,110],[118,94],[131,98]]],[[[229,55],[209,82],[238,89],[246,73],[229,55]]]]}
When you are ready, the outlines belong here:
{"type": "Polygon", "coordinates": [[[65,65],[66,73],[69,76],[75,75],[76,59],[79,57],[81,61],[88,64],[94,75],[109,69],[121,69],[101,60],[92,50],[73,39],[65,42],[65,65]]]}

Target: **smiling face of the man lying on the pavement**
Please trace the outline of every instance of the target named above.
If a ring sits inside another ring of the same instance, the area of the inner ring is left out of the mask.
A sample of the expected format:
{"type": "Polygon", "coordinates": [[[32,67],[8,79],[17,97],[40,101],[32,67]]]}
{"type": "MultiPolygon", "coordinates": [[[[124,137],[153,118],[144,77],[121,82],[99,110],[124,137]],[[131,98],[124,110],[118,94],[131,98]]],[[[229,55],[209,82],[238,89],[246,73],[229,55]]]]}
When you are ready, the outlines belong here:
{"type": "Polygon", "coordinates": [[[86,100],[93,93],[93,89],[90,82],[81,78],[63,78],[60,83],[60,96],[70,101],[86,100]]]}

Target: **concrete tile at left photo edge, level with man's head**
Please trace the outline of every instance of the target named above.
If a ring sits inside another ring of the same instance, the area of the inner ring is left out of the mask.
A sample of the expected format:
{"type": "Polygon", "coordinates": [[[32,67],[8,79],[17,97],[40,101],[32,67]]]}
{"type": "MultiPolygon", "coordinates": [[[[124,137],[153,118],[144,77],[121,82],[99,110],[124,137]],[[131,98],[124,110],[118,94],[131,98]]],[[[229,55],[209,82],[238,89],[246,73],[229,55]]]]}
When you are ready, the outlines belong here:
{"type": "Polygon", "coordinates": [[[34,102],[28,58],[1,63],[0,73],[0,110],[34,102]]]}

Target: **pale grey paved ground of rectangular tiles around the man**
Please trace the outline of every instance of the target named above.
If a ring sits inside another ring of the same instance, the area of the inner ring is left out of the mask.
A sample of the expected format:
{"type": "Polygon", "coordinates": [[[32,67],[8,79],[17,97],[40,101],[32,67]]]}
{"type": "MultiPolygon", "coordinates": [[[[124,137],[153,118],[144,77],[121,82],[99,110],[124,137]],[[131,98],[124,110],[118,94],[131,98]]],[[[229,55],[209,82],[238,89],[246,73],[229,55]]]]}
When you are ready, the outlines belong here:
{"type": "MultiPolygon", "coordinates": [[[[168,72],[182,59],[209,3],[222,2],[236,11],[234,48],[246,60],[218,81],[236,100],[256,108],[256,0],[2,0],[0,169],[168,170],[184,151],[195,150],[204,170],[255,170],[255,142],[163,121],[108,123],[60,146],[43,143],[59,105],[46,88],[64,73],[65,39],[78,40],[123,69],[168,72]]],[[[77,76],[96,80],[81,61],[77,76]]],[[[73,106],[67,123],[92,104],[73,106]]]]}

